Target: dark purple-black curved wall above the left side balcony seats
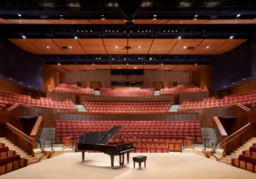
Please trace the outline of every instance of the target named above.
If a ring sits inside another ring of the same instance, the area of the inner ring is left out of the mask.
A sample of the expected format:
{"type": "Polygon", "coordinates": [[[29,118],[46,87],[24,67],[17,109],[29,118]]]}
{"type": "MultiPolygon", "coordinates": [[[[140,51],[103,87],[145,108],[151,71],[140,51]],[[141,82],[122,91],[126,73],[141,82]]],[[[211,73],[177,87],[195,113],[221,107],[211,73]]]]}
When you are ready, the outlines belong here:
{"type": "Polygon", "coordinates": [[[4,43],[0,47],[0,74],[42,90],[43,56],[31,54],[15,46],[1,30],[0,43],[4,43]]]}

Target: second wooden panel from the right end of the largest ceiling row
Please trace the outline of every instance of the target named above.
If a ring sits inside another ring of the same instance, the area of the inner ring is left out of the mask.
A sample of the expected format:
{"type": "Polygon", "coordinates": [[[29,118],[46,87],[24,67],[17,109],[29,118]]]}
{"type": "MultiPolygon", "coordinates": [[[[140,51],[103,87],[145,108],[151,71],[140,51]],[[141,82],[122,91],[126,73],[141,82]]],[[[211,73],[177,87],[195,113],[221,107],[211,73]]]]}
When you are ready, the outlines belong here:
{"type": "Polygon", "coordinates": [[[224,43],[227,42],[229,39],[204,39],[202,43],[200,43],[199,46],[194,48],[191,52],[189,52],[189,55],[204,55],[208,54],[220,46],[222,46],[224,43]],[[209,47],[209,48],[207,48],[209,47]]]}

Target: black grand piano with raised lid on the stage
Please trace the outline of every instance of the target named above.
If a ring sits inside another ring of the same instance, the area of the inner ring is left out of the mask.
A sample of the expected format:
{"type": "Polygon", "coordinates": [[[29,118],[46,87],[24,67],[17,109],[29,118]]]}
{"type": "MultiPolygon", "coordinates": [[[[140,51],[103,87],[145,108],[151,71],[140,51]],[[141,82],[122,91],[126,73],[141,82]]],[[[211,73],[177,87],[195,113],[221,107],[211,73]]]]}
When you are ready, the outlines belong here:
{"type": "MultiPolygon", "coordinates": [[[[77,149],[82,151],[82,161],[85,159],[85,150],[104,152],[110,155],[111,167],[114,168],[114,157],[119,155],[119,164],[124,164],[124,155],[127,154],[127,163],[129,163],[130,152],[135,151],[132,143],[122,143],[112,145],[109,141],[122,128],[114,126],[109,131],[89,132],[79,137],[77,140],[77,149]],[[122,159],[122,160],[121,160],[122,159]]],[[[120,134],[120,133],[119,133],[120,134]]]]}

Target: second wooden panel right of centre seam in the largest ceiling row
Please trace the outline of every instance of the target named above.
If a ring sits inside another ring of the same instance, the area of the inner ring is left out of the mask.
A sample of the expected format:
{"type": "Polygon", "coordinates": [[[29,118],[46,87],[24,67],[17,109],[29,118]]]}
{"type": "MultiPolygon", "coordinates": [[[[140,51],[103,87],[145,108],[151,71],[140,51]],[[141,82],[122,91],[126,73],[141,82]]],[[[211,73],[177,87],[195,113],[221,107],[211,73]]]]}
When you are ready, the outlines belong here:
{"type": "Polygon", "coordinates": [[[177,41],[178,39],[153,39],[148,54],[167,54],[177,41]]]}

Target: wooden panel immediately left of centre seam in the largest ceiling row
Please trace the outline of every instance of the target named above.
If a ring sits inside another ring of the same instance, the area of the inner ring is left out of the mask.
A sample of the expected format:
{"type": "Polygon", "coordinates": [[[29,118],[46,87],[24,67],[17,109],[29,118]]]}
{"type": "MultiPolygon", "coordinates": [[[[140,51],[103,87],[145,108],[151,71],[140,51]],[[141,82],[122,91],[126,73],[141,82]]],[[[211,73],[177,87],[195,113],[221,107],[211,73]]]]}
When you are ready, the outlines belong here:
{"type": "MultiPolygon", "coordinates": [[[[127,50],[125,49],[127,46],[127,39],[103,39],[103,41],[108,54],[127,54],[127,50]],[[115,46],[118,48],[115,48],[115,46]]],[[[131,46],[130,39],[129,46],[131,46]]]]}

